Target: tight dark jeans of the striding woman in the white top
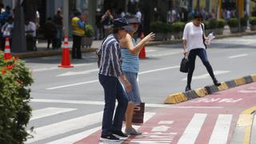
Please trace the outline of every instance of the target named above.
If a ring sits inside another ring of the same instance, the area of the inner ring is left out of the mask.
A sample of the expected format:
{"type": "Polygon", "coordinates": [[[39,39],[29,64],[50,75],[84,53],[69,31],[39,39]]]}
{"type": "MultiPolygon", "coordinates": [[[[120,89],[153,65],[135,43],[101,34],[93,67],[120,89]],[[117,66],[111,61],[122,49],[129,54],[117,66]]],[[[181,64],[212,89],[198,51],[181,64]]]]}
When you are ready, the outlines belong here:
{"type": "Polygon", "coordinates": [[[206,66],[206,69],[208,73],[210,74],[210,77],[213,79],[213,81],[216,81],[216,78],[214,76],[214,70],[210,66],[210,62],[208,61],[206,50],[205,49],[194,49],[190,50],[189,54],[189,73],[187,74],[187,85],[190,86],[191,79],[194,72],[194,62],[196,59],[196,56],[198,55],[199,58],[201,58],[202,63],[206,66]]]}

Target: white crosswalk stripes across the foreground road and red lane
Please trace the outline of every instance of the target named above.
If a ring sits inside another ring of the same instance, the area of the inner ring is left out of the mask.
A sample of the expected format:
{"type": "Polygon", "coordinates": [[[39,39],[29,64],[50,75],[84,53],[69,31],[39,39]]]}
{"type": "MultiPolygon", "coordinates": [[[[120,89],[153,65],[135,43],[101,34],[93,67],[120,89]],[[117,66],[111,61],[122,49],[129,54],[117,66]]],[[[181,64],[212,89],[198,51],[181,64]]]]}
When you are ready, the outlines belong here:
{"type": "MultiPolygon", "coordinates": [[[[51,116],[56,116],[58,114],[66,114],[72,113],[78,109],[76,108],[64,108],[64,107],[46,107],[39,110],[33,111],[33,117],[30,121],[38,121],[44,118],[50,118],[51,116]]],[[[179,137],[177,142],[178,144],[192,144],[198,143],[198,137],[200,132],[203,129],[206,129],[206,120],[210,114],[205,113],[195,113],[193,117],[186,123],[186,128],[181,132],[170,132],[172,137],[179,137]]],[[[154,117],[157,117],[158,114],[155,112],[146,112],[145,113],[145,122],[152,120],[154,117]]],[[[229,134],[230,134],[230,126],[234,118],[232,114],[215,114],[214,122],[212,130],[210,130],[210,138],[208,142],[210,144],[224,144],[228,142],[229,134]]],[[[34,128],[34,138],[30,138],[26,141],[26,143],[47,143],[47,144],[71,144],[74,142],[78,142],[79,140],[90,136],[90,134],[94,134],[98,130],[101,130],[101,122],[102,122],[102,111],[94,112],[92,114],[85,114],[75,118],[70,118],[66,120],[62,120],[61,122],[53,122],[47,124],[46,126],[39,126],[34,128]],[[74,132],[69,134],[70,132],[74,132]]],[[[163,121],[162,121],[163,122],[163,121]]],[[[177,124],[176,120],[174,121],[166,121],[171,125],[177,124]]],[[[152,122],[151,122],[152,123],[152,122]]],[[[157,122],[156,122],[157,123],[157,122]]],[[[159,124],[162,124],[159,122],[159,124]]],[[[168,124],[168,123],[166,123],[168,124]]],[[[147,126],[148,127],[148,126],[147,126]]],[[[149,131],[143,131],[143,126],[136,126],[136,129],[141,128],[144,136],[135,137],[130,142],[137,143],[158,143],[158,139],[150,139],[154,136],[150,136],[148,134],[149,131]],[[148,137],[146,137],[148,134],[148,137]],[[146,139],[143,139],[146,138],[146,139]]],[[[152,131],[154,132],[154,128],[152,127],[152,131]]],[[[159,130],[157,130],[159,131],[159,130]]],[[[161,130],[160,130],[161,131],[161,130]]],[[[158,136],[162,139],[161,143],[172,143],[174,138],[170,138],[160,134],[158,136]]]]}

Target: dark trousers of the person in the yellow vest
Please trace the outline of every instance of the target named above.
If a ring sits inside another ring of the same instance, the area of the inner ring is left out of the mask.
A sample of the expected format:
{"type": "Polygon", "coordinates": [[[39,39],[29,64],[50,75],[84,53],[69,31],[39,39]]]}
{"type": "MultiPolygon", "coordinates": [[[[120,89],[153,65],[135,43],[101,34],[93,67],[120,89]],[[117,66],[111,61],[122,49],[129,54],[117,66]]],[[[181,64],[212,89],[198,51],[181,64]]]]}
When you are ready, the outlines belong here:
{"type": "Polygon", "coordinates": [[[72,58],[82,58],[81,40],[81,36],[73,35],[72,58]]]}

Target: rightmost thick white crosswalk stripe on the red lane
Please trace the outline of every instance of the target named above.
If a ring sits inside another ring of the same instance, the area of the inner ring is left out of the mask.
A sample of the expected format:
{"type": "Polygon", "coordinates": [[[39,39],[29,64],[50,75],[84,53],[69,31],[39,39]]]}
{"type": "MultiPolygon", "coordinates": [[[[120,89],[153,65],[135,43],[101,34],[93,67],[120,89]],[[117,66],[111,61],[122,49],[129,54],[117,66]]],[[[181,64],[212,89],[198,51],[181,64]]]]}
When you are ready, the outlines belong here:
{"type": "Polygon", "coordinates": [[[232,114],[219,114],[214,126],[213,134],[210,137],[210,144],[225,144],[230,132],[232,114]]]}

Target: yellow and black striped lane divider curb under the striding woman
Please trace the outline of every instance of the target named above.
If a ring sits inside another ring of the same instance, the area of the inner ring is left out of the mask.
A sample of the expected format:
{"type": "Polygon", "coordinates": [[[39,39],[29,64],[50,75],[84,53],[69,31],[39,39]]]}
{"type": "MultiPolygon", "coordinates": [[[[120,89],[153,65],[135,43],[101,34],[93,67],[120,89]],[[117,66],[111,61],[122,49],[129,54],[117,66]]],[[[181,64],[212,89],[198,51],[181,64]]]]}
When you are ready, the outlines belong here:
{"type": "Polygon", "coordinates": [[[236,86],[242,86],[248,83],[256,82],[256,74],[251,74],[242,78],[235,78],[234,80],[222,82],[221,86],[205,86],[196,90],[189,90],[184,93],[169,94],[166,97],[165,104],[175,104],[185,102],[194,98],[202,98],[208,94],[214,94],[218,91],[228,90],[236,86]]]}

